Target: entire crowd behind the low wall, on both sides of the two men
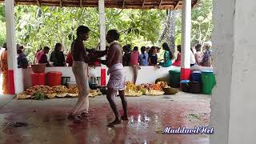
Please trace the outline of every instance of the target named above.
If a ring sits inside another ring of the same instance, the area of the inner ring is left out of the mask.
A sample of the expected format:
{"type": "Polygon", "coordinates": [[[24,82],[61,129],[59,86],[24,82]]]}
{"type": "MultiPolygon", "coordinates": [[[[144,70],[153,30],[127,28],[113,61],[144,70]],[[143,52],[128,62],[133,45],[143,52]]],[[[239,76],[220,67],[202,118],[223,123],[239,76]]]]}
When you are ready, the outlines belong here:
{"type": "MultiPolygon", "coordinates": [[[[135,75],[138,73],[138,70],[140,70],[140,66],[156,66],[158,68],[160,68],[160,66],[181,66],[181,45],[177,46],[177,54],[175,56],[175,53],[170,50],[170,46],[164,42],[162,44],[162,50],[164,50],[163,58],[159,58],[161,48],[158,46],[142,46],[140,52],[138,46],[134,46],[133,50],[131,47],[130,44],[122,46],[122,65],[132,66],[135,75]]],[[[72,66],[73,58],[71,50],[66,54],[64,54],[62,50],[62,44],[56,43],[54,50],[50,54],[50,58],[48,58],[47,55],[50,52],[50,47],[44,46],[35,54],[34,63],[46,63],[46,66],[72,66]]],[[[212,50],[210,42],[204,43],[203,46],[198,43],[191,47],[190,50],[190,66],[211,66],[212,50]]],[[[25,48],[23,46],[17,45],[18,68],[26,68],[29,66],[29,61],[24,51],[25,48]]],[[[86,49],[86,51],[92,50],[86,49]]],[[[136,82],[136,80],[134,80],[134,82],[136,82]]]]}

